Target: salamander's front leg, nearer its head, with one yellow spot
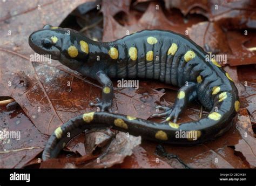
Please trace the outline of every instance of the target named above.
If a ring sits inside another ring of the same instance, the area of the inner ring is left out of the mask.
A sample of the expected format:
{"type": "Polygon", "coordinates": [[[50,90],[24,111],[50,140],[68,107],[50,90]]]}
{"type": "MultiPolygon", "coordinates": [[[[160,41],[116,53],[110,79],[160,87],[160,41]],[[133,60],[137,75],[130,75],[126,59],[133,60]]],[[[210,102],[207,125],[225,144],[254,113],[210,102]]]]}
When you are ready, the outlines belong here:
{"type": "Polygon", "coordinates": [[[112,81],[107,77],[106,73],[99,71],[96,73],[96,79],[103,86],[102,88],[102,99],[96,98],[96,104],[90,103],[90,106],[99,107],[100,111],[111,111],[112,99],[113,99],[113,84],[112,81]]]}

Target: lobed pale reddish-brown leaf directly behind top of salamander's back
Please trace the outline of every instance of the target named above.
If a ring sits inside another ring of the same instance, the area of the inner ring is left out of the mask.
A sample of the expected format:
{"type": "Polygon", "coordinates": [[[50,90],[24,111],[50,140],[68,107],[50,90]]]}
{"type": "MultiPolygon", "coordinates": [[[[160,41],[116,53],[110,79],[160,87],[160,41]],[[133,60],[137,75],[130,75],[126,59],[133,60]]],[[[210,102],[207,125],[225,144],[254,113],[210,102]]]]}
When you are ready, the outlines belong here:
{"type": "Polygon", "coordinates": [[[103,25],[105,30],[103,35],[103,41],[110,41],[122,38],[127,35],[127,31],[129,31],[129,34],[131,34],[133,32],[144,29],[172,30],[178,33],[185,33],[187,27],[192,26],[194,23],[198,23],[203,20],[200,17],[192,17],[184,23],[182,15],[173,14],[170,17],[166,17],[163,9],[157,2],[150,2],[146,11],[143,12],[139,19],[134,18],[136,17],[136,14],[132,11],[125,11],[126,17],[128,17],[129,20],[132,20],[132,22],[127,20],[126,22],[129,24],[125,22],[123,26],[120,25],[117,20],[114,19],[114,17],[109,16],[109,11],[111,9],[112,5],[110,3],[107,3],[107,1],[103,1],[102,12],[105,20],[103,25]],[[159,6],[159,9],[156,9],[156,5],[159,6]]]}

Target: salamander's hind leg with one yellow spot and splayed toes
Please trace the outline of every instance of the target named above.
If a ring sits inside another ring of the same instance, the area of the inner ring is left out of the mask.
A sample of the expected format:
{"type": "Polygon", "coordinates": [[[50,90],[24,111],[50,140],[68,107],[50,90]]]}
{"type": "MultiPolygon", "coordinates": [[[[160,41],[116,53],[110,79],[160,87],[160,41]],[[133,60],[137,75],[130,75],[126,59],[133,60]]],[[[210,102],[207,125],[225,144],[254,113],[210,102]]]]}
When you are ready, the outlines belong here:
{"type": "Polygon", "coordinates": [[[185,86],[181,87],[178,91],[177,99],[172,107],[157,106],[159,109],[164,110],[164,112],[159,114],[151,115],[153,117],[165,118],[165,121],[170,121],[176,123],[180,113],[184,111],[187,104],[197,97],[196,91],[197,84],[194,82],[188,82],[185,86]]]}

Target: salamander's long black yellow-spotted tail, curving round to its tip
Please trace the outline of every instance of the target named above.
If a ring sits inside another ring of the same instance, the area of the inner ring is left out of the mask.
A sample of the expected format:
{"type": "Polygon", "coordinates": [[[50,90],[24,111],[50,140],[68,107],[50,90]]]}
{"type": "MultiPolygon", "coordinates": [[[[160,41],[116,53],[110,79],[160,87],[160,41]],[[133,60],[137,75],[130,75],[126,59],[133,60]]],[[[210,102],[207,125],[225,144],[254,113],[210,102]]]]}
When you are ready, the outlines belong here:
{"type": "Polygon", "coordinates": [[[170,144],[199,144],[213,140],[232,126],[232,119],[239,109],[238,96],[232,92],[223,92],[214,97],[214,106],[206,118],[181,123],[157,123],[122,114],[107,112],[89,112],[79,115],[58,127],[50,136],[43,151],[43,160],[57,157],[72,137],[85,129],[112,126],[123,132],[129,132],[144,139],[170,144]]]}

